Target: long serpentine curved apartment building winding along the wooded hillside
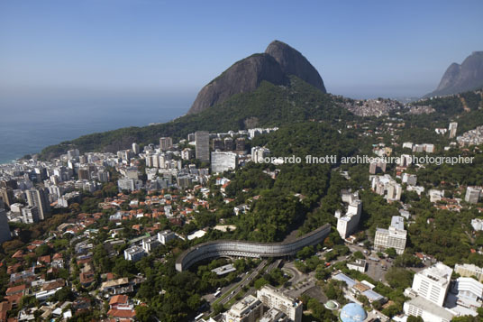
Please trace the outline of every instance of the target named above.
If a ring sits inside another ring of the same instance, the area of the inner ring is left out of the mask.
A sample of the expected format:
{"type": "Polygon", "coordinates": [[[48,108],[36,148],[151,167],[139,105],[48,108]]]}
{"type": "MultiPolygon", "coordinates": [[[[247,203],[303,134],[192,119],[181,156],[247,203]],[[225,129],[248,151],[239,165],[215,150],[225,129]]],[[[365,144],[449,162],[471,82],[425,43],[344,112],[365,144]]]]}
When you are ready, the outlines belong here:
{"type": "Polygon", "coordinates": [[[219,240],[197,244],[179,255],[176,260],[176,270],[184,271],[196,262],[203,261],[207,258],[222,256],[255,258],[291,256],[295,255],[296,252],[305,246],[322,243],[330,232],[331,225],[326,224],[288,243],[253,243],[236,240],[219,240]]]}

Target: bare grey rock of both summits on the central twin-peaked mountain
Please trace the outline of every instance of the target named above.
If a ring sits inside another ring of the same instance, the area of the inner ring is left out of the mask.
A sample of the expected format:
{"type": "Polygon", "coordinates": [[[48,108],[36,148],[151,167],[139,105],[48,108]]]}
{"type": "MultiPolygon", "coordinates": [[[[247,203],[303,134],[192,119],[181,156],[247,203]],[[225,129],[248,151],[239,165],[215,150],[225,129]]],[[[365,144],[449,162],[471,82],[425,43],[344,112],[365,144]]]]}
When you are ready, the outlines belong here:
{"type": "Polygon", "coordinates": [[[319,72],[299,51],[282,41],[272,41],[264,53],[235,62],[203,87],[188,114],[221,104],[235,94],[253,92],[263,80],[274,85],[288,85],[291,75],[326,93],[319,72]]]}

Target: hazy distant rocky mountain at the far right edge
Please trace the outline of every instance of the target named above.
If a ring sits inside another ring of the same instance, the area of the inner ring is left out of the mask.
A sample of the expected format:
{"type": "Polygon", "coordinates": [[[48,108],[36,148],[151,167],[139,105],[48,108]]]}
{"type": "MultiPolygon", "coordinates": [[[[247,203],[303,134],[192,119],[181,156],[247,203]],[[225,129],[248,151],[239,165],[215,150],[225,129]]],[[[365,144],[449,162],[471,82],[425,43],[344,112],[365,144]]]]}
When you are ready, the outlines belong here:
{"type": "Polygon", "coordinates": [[[442,75],[440,85],[424,97],[459,94],[483,87],[483,51],[473,51],[463,62],[453,62],[442,75]]]}

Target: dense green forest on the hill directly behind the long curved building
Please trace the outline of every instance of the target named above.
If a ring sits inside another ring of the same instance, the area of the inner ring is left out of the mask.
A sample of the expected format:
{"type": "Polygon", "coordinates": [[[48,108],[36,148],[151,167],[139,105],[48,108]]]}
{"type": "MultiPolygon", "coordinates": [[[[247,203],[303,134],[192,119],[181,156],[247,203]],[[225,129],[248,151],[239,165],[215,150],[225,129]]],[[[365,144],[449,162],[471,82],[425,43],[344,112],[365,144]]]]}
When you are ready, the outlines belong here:
{"type": "MultiPolygon", "coordinates": [[[[236,238],[260,242],[281,241],[292,230],[306,225],[303,231],[310,231],[329,220],[329,216],[311,219],[310,224],[304,224],[305,219],[315,216],[313,212],[321,211],[322,198],[332,189],[331,198],[338,200],[341,185],[330,185],[335,164],[306,164],[305,155],[350,156],[360,151],[360,140],[354,133],[341,133],[333,130],[327,124],[307,122],[287,125],[275,133],[261,135],[253,140],[253,145],[268,146],[274,157],[295,155],[301,158],[301,163],[285,163],[278,166],[278,177],[273,180],[263,170],[274,170],[271,164],[249,164],[236,174],[228,175],[232,179],[226,193],[229,198],[236,198],[236,203],[251,199],[250,211],[243,216],[232,218],[237,225],[234,232],[236,238]],[[333,186],[333,187],[331,187],[333,186]],[[330,188],[331,187],[331,188],[330,188]],[[248,189],[243,192],[243,189],[248,189]],[[336,197],[332,197],[332,196],[336,197]]],[[[332,179],[335,180],[335,179],[332,179]]],[[[325,210],[333,217],[333,200],[326,199],[325,210]],[[332,206],[329,206],[332,205],[332,206]]],[[[324,206],[325,207],[325,206],[324,206]]]]}

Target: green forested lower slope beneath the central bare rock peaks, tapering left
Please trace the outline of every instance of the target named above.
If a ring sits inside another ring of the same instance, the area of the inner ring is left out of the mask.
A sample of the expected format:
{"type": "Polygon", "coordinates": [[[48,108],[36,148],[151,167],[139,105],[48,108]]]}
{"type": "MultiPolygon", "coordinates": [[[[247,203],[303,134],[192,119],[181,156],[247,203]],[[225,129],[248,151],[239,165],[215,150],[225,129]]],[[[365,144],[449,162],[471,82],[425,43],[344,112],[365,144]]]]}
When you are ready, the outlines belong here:
{"type": "Polygon", "coordinates": [[[257,126],[281,126],[310,119],[328,124],[354,117],[341,108],[336,98],[292,76],[284,87],[262,81],[250,93],[236,94],[222,104],[204,111],[178,117],[158,125],[128,127],[104,133],[94,133],[57,145],[41,152],[41,159],[50,159],[77,148],[81,152],[116,152],[129,149],[133,142],[157,143],[160,136],[186,138],[198,130],[211,132],[237,131],[257,126]]]}

